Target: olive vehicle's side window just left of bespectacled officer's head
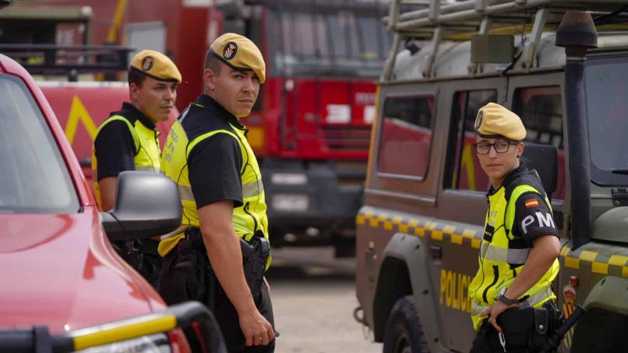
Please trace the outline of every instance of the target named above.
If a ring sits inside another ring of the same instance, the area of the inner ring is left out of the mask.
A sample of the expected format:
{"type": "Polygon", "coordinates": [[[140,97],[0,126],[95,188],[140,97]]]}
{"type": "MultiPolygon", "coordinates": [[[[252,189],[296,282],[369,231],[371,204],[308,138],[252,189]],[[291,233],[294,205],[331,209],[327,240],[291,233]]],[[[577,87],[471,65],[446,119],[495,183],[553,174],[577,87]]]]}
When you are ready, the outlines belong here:
{"type": "Polygon", "coordinates": [[[451,127],[448,146],[445,188],[486,191],[489,178],[482,171],[473,144],[477,111],[497,101],[496,90],[458,91],[451,106],[451,127]]]}

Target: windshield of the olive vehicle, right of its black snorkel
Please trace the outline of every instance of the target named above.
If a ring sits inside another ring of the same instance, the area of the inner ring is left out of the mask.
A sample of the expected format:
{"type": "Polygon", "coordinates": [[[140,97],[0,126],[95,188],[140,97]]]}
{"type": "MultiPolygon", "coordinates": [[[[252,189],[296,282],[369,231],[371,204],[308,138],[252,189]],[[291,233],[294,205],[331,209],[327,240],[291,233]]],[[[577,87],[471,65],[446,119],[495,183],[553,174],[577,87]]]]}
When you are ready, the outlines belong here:
{"type": "Polygon", "coordinates": [[[628,185],[628,57],[587,60],[585,68],[591,177],[628,185]]]}

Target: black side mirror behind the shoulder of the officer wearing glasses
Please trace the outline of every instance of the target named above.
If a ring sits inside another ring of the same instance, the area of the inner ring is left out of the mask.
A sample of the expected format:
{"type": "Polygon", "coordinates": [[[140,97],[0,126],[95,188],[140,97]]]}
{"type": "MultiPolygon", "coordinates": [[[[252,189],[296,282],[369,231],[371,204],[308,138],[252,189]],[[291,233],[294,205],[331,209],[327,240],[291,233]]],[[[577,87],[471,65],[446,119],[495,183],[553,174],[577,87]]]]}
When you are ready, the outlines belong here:
{"type": "Polygon", "coordinates": [[[526,142],[524,154],[521,157],[531,162],[536,169],[547,195],[556,191],[558,180],[558,151],[548,144],[533,144],[526,142]]]}

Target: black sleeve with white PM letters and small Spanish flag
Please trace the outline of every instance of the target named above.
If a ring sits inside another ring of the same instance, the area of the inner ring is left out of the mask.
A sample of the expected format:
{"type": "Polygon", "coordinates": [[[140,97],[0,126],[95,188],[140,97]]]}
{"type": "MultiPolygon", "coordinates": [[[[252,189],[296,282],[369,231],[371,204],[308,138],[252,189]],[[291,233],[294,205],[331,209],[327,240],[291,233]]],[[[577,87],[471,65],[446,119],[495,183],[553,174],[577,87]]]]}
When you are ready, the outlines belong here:
{"type": "Polygon", "coordinates": [[[514,206],[514,235],[522,237],[529,245],[543,235],[558,236],[554,216],[541,195],[534,192],[523,193],[514,206]]]}

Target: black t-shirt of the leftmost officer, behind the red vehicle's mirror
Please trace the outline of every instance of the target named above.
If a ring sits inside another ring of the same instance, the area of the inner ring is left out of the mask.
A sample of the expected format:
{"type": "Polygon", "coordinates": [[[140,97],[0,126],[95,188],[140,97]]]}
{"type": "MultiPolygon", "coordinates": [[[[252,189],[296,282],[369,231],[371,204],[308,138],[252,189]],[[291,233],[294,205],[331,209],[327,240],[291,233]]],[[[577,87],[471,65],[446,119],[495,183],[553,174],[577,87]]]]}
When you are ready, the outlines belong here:
{"type": "MultiPolygon", "coordinates": [[[[111,113],[111,116],[119,115],[135,125],[139,120],[144,126],[155,129],[155,124],[144,116],[130,103],[123,103],[122,109],[111,113]]],[[[125,170],[135,170],[135,141],[128,125],[121,120],[114,120],[104,125],[94,141],[95,155],[98,160],[98,181],[107,177],[117,177],[125,170]]]]}

